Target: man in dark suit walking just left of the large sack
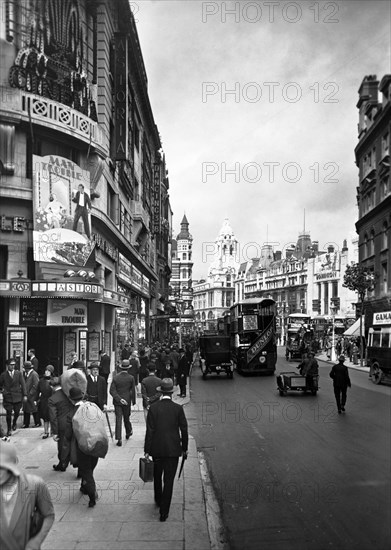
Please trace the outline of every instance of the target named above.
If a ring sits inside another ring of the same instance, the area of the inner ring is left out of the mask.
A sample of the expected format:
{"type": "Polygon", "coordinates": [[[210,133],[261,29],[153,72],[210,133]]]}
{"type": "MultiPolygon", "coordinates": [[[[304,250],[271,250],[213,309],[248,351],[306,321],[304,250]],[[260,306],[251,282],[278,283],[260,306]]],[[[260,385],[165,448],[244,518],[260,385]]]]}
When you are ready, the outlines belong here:
{"type": "Polygon", "coordinates": [[[49,418],[53,439],[57,442],[58,464],[53,470],[65,472],[71,454],[72,416],[74,405],[61,389],[60,379],[53,378],[53,395],[49,398],[49,418]]]}

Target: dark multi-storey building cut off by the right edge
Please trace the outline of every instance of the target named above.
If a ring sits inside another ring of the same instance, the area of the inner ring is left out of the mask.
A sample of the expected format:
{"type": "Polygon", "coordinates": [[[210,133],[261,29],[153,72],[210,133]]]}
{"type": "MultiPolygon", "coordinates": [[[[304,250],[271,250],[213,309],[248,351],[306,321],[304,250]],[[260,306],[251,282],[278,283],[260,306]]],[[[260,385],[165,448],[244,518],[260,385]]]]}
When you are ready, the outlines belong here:
{"type": "Polygon", "coordinates": [[[364,304],[366,329],[377,312],[391,311],[391,74],[366,76],[358,90],[357,187],[359,262],[376,275],[364,304]],[[381,100],[379,101],[379,92],[381,100]]]}

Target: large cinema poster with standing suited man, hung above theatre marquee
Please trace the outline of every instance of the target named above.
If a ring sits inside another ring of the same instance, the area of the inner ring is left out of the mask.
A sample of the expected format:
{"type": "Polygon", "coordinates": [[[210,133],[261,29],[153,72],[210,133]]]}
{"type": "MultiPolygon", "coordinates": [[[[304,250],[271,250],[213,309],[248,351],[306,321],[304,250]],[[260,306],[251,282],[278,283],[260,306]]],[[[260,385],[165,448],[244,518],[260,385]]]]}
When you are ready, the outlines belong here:
{"type": "Polygon", "coordinates": [[[90,173],[69,159],[33,156],[34,260],[84,266],[91,239],[90,173]]]}

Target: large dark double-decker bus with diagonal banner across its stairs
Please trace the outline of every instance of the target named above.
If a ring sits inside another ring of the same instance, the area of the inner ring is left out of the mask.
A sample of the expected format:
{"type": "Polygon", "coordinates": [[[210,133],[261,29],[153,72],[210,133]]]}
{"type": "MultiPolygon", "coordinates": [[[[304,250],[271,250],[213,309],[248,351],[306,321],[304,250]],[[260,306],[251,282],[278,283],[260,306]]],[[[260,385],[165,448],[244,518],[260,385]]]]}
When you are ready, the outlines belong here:
{"type": "Polygon", "coordinates": [[[276,369],[276,303],[271,298],[248,298],[231,311],[231,352],[240,374],[273,374],[276,369]]]}

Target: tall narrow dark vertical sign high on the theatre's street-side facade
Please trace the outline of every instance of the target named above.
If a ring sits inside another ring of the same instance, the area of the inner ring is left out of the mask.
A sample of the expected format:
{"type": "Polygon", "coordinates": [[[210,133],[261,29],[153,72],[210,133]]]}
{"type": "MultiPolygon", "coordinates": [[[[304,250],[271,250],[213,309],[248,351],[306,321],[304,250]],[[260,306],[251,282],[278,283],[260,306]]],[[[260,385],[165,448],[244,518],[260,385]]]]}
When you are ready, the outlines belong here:
{"type": "Polygon", "coordinates": [[[115,160],[127,160],[128,151],[128,38],[125,33],[115,33],[115,160]]]}

